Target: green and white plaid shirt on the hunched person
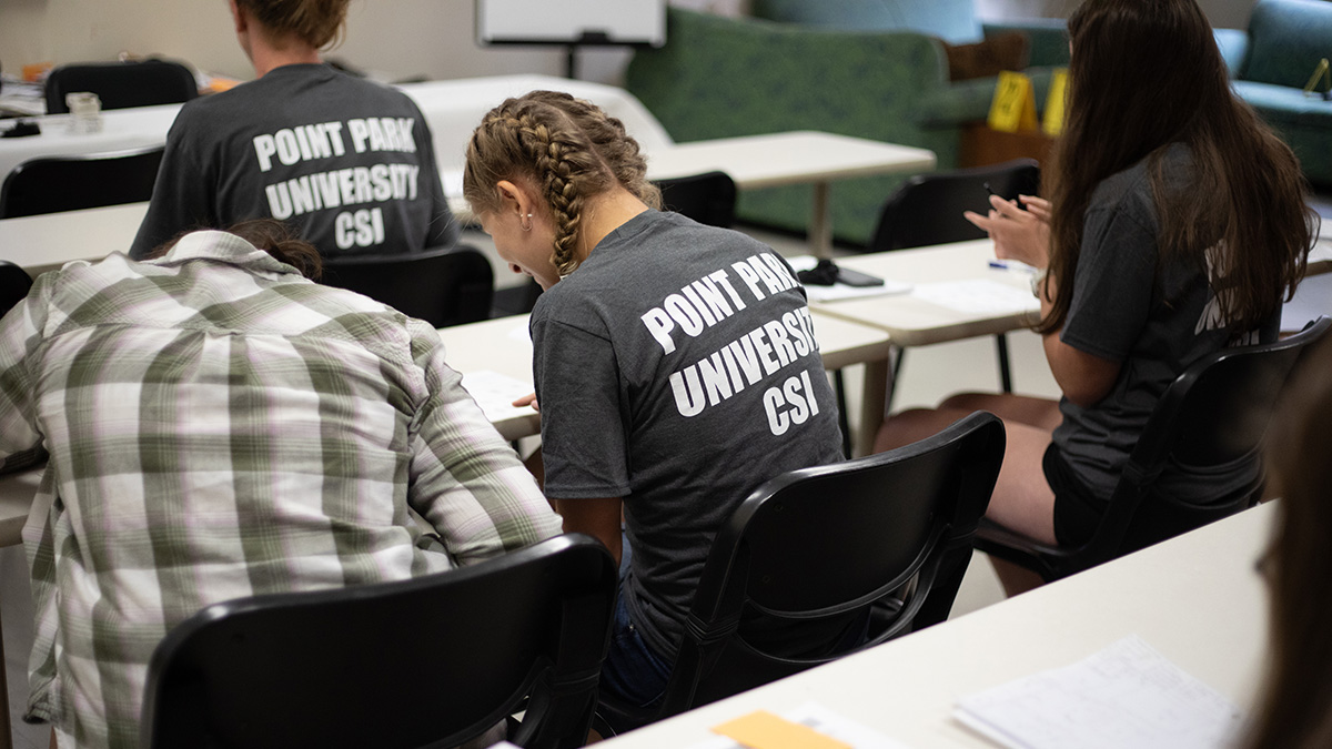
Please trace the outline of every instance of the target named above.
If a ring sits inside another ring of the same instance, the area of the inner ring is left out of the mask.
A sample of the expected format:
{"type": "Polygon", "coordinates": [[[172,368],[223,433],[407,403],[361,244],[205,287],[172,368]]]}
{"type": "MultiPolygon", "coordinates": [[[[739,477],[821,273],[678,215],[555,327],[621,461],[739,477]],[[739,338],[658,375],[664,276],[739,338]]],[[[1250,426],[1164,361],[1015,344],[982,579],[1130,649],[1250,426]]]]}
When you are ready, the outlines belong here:
{"type": "Polygon", "coordinates": [[[39,277],[0,321],[0,470],[49,452],[24,528],[27,717],[63,745],[136,746],[153,648],[206,605],[559,533],[460,382],[425,323],[233,235],[39,277]]]}

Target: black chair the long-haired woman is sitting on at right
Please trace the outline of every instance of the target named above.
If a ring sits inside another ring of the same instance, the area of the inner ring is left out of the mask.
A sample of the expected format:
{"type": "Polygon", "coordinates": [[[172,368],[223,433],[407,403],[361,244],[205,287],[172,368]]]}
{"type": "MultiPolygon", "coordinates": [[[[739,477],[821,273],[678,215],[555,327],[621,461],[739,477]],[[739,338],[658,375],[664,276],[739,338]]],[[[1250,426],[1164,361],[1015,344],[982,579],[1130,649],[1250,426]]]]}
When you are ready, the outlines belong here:
{"type": "Polygon", "coordinates": [[[1235,514],[1263,493],[1263,437],[1281,388],[1301,352],[1332,329],[1323,317],[1303,332],[1263,345],[1213,353],[1167,388],[1115,486],[1096,533],[1079,546],[1050,546],[982,521],[976,548],[1058,580],[1235,514]],[[1164,469],[1204,474],[1251,461],[1253,481],[1231,496],[1193,504],[1156,488],[1164,469]]]}

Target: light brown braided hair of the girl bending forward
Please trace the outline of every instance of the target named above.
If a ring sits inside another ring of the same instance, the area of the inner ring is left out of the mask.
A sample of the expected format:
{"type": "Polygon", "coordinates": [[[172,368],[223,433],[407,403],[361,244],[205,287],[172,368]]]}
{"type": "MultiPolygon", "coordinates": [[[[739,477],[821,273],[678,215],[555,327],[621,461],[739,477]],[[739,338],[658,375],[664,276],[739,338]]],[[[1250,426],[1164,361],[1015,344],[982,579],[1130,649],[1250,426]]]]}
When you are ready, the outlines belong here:
{"type": "Polygon", "coordinates": [[[472,133],[462,195],[473,212],[500,211],[501,180],[541,192],[555,225],[551,263],[561,276],[578,267],[574,248],[589,197],[618,184],[649,207],[661,207],[661,192],[647,181],[647,161],[623,123],[555,91],[505,100],[472,133]]]}

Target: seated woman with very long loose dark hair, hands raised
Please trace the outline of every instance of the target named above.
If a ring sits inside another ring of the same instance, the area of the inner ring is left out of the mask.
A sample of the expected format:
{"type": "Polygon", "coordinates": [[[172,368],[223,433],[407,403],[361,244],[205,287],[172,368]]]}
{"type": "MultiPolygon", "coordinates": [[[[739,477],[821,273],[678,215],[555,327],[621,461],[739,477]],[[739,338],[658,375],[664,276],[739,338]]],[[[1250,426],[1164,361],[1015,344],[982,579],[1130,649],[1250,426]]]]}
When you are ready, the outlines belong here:
{"type": "MultiPolygon", "coordinates": [[[[1050,200],[970,213],[999,257],[1040,269],[1046,356],[1063,397],[967,393],[884,422],[876,449],[986,409],[1008,430],[988,514],[1044,542],[1087,540],[1138,434],[1189,364],[1269,341],[1315,219],[1291,149],[1236,99],[1195,0],[1088,0],[1068,21],[1070,99],[1050,200]]],[[[1224,494],[1257,470],[1162,486],[1224,494]]]]}

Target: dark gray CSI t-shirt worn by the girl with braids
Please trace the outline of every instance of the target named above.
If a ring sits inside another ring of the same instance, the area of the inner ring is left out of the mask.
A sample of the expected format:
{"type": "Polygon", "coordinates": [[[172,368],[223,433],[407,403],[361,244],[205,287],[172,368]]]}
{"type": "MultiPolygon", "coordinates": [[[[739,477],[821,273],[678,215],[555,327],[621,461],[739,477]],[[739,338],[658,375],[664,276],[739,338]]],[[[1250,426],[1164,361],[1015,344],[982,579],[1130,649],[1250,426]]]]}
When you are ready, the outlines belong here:
{"type": "Polygon", "coordinates": [[[623,497],[630,617],[674,658],[717,529],[842,460],[805,289],[742,233],[647,211],[531,313],[546,494],[623,497]]]}

